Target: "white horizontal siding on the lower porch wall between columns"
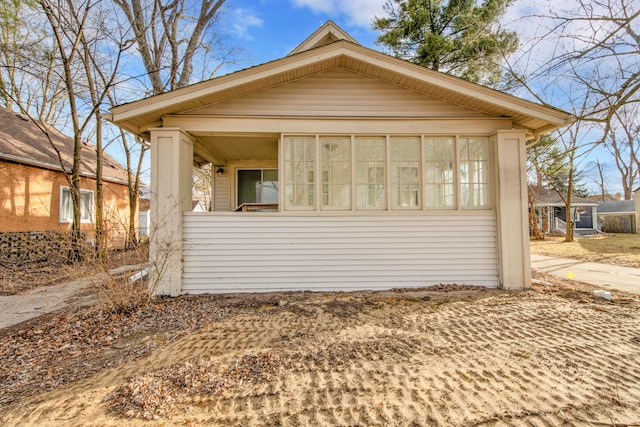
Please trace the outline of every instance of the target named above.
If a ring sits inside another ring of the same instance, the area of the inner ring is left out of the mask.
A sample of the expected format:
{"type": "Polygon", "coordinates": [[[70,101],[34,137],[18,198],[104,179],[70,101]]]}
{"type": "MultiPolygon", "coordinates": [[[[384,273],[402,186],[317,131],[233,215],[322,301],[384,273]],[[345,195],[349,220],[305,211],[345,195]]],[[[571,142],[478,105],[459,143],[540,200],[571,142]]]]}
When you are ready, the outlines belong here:
{"type": "Polygon", "coordinates": [[[496,219],[185,213],[183,292],[498,286],[496,219]]]}

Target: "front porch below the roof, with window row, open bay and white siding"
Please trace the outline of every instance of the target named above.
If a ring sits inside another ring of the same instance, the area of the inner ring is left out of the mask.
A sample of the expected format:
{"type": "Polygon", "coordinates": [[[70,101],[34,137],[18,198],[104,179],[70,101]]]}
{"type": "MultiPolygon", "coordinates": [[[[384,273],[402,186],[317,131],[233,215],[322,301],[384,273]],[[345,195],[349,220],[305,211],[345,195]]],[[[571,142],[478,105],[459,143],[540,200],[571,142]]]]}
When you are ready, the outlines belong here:
{"type": "Polygon", "coordinates": [[[160,181],[213,165],[212,211],[176,212],[180,269],[167,266],[162,293],[498,287],[497,156],[520,150],[508,137],[152,130],[157,167],[174,165],[152,185],[160,200],[160,181]]]}

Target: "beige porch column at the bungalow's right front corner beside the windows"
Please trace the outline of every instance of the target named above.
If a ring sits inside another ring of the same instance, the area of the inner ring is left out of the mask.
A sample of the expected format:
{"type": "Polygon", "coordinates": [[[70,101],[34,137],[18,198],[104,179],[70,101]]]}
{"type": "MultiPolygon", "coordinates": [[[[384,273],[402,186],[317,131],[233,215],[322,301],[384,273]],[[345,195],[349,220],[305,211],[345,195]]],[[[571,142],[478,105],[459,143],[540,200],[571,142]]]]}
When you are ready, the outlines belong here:
{"type": "Polygon", "coordinates": [[[503,289],[531,287],[524,132],[499,131],[496,147],[498,272],[503,289]]]}

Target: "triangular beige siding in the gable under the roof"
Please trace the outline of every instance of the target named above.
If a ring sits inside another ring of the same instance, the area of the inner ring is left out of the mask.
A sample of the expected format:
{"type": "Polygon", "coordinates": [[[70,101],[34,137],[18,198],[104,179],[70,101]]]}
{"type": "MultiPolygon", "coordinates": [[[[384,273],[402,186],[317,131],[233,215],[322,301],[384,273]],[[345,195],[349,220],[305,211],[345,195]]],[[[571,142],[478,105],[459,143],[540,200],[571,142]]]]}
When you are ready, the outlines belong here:
{"type": "Polygon", "coordinates": [[[484,114],[345,68],[319,73],[189,114],[317,117],[467,117],[484,114]]]}

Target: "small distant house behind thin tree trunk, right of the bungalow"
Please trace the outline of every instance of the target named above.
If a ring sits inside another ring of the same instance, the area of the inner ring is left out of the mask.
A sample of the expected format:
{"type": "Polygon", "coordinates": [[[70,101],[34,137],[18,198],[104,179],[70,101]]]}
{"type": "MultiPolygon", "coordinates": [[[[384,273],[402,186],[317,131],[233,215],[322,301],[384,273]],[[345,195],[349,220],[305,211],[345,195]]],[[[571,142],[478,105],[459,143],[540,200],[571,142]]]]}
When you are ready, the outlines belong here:
{"type": "Polygon", "coordinates": [[[541,188],[539,190],[536,197],[538,227],[543,230],[546,224],[547,234],[564,235],[567,230],[566,222],[572,221],[575,235],[583,236],[597,233],[598,203],[575,194],[572,195],[571,209],[567,219],[565,199],[566,197],[554,189],[541,188]]]}

